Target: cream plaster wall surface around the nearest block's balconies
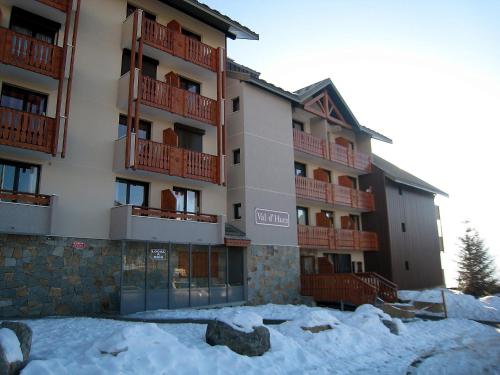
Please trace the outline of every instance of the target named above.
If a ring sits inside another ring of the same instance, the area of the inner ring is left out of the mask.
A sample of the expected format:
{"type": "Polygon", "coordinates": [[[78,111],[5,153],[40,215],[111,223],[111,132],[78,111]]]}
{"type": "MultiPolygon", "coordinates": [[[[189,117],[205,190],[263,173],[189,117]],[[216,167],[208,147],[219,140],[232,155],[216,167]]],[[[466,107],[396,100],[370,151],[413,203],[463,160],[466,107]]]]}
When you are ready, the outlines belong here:
{"type": "MultiPolygon", "coordinates": [[[[137,2],[135,2],[137,3],[137,2]]],[[[1,4],[1,2],[0,2],[1,4]]],[[[190,30],[200,33],[202,41],[214,47],[224,46],[224,34],[191,20],[188,16],[159,1],[144,1],[144,8],[158,15],[158,21],[166,24],[178,20],[190,30]]],[[[8,24],[8,7],[1,7],[2,24],[8,24]]],[[[107,238],[109,235],[110,208],[114,204],[115,179],[127,177],[150,183],[150,205],[160,206],[160,192],[175,186],[201,190],[201,210],[204,213],[225,215],[226,189],[188,180],[170,181],[161,175],[141,175],[113,172],[114,140],[117,138],[118,117],[124,113],[117,107],[117,88],[121,69],[121,33],[125,19],[125,0],[84,0],[81,3],[79,34],[76,49],[71,113],[68,131],[68,148],[65,159],[60,156],[26,153],[19,156],[0,148],[0,157],[33,162],[42,166],[40,193],[56,194],[59,204],[55,215],[54,234],[88,238],[107,238]],[[133,176],[133,177],[131,177],[133,176]]],[[[189,76],[189,64],[183,72],[189,76]]],[[[49,93],[48,115],[55,115],[57,87],[47,91],[32,81],[13,80],[6,76],[6,69],[0,65],[0,80],[12,82],[36,91],[49,93]]],[[[169,67],[158,69],[158,78],[169,67]]],[[[215,75],[215,74],[214,74],[215,75]]],[[[202,94],[216,97],[215,80],[202,82],[202,94]]],[[[161,117],[141,118],[153,121],[152,139],[161,140],[166,127],[173,126],[161,117]]],[[[216,129],[207,126],[204,137],[204,151],[216,154],[216,129]]]]}

